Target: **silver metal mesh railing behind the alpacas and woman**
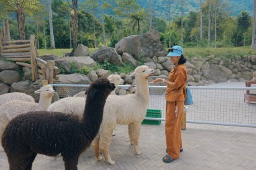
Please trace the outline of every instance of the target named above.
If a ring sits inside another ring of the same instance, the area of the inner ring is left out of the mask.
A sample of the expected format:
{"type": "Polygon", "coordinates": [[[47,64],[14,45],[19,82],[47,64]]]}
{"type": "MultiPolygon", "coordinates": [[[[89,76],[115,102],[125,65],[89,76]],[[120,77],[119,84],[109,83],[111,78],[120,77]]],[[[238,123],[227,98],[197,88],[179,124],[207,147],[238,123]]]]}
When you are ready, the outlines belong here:
{"type": "MultiPolygon", "coordinates": [[[[86,91],[89,85],[54,84],[61,97],[73,96],[86,91]]],[[[129,89],[130,85],[119,85],[129,89]]],[[[162,118],[147,120],[165,120],[166,86],[150,86],[149,109],[162,110],[162,118]]],[[[187,123],[216,124],[225,126],[256,127],[256,103],[250,105],[244,101],[246,91],[256,93],[256,87],[190,87],[194,105],[188,105],[187,123]]],[[[256,97],[256,95],[255,95],[256,97]]]]}

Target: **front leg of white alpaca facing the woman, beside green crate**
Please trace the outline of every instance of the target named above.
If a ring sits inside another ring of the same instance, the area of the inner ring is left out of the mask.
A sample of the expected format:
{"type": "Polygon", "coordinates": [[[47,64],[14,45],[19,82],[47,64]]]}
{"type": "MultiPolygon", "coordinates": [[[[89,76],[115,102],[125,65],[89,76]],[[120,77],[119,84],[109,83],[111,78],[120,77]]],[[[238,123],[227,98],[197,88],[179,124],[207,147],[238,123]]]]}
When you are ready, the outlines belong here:
{"type": "Polygon", "coordinates": [[[134,150],[137,155],[141,155],[141,151],[139,151],[139,130],[140,130],[140,122],[136,122],[131,124],[131,140],[134,144],[134,150]]]}

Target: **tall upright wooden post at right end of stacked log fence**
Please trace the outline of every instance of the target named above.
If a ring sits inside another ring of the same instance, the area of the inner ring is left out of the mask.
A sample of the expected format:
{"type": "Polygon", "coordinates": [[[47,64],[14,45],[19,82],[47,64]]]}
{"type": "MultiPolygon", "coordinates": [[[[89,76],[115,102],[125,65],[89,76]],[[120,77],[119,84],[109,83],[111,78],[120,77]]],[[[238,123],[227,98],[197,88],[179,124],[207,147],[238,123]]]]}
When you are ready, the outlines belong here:
{"type": "Polygon", "coordinates": [[[31,66],[32,66],[32,81],[38,79],[37,62],[36,62],[36,47],[34,46],[34,35],[30,36],[30,55],[31,55],[31,66]]]}

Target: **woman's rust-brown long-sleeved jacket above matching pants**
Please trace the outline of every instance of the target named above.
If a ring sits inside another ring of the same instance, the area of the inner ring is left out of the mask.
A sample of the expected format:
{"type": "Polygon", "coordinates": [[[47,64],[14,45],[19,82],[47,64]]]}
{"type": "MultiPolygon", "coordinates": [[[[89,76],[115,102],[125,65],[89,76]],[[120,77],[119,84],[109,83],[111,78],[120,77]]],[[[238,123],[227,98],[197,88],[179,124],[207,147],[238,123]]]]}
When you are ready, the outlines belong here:
{"type": "Polygon", "coordinates": [[[167,85],[166,101],[184,101],[187,97],[186,82],[187,69],[185,65],[177,65],[170,71],[168,81],[173,84],[167,85]]]}

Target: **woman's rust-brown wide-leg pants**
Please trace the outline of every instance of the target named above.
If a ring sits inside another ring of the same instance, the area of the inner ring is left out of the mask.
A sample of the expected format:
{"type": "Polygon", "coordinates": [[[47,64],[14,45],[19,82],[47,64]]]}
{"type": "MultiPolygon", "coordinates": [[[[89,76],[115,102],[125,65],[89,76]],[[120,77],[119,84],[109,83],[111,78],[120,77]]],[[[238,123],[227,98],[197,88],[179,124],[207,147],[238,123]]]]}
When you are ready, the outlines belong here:
{"type": "Polygon", "coordinates": [[[168,155],[172,159],[178,159],[180,148],[182,147],[181,140],[181,117],[183,114],[184,101],[166,101],[166,121],[165,121],[165,136],[168,155]],[[178,108],[175,114],[176,107],[178,108]]]}

